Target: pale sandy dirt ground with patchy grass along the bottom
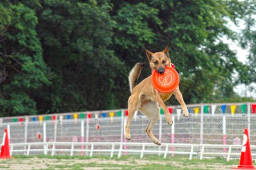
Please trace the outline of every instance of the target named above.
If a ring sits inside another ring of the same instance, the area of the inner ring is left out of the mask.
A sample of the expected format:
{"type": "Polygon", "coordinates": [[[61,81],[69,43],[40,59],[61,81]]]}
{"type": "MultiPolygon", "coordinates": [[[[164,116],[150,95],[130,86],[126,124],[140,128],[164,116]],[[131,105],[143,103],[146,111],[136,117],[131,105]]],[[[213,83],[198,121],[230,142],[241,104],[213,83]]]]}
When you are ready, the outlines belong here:
{"type": "MultiPolygon", "coordinates": [[[[231,165],[223,164],[180,164],[179,162],[170,161],[154,161],[145,159],[127,159],[127,160],[115,160],[115,159],[48,159],[48,158],[11,158],[0,159],[0,169],[10,170],[39,170],[39,169],[86,169],[86,170],[102,170],[102,169],[126,169],[128,166],[143,166],[144,169],[147,166],[153,165],[172,165],[180,169],[230,169],[234,167],[231,165]],[[127,166],[126,166],[127,165],[127,166]]],[[[236,167],[236,166],[235,166],[236,167]]],[[[133,169],[133,168],[131,168],[133,169]]],[[[147,168],[146,168],[147,169],[147,168]]],[[[151,169],[151,168],[149,168],[151,169]]]]}

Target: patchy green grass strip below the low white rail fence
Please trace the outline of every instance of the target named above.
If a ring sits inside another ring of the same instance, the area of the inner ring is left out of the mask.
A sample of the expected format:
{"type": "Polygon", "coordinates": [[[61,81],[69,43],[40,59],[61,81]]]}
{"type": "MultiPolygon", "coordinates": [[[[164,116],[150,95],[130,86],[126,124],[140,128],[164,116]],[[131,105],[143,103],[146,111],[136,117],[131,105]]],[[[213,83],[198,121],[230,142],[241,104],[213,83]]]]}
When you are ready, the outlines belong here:
{"type": "Polygon", "coordinates": [[[0,159],[1,169],[28,169],[28,170],[113,170],[113,169],[140,169],[140,170],[209,170],[209,169],[230,169],[237,167],[239,160],[230,160],[223,158],[203,159],[193,158],[188,160],[187,156],[163,157],[145,156],[142,159],[139,156],[122,156],[109,158],[109,156],[13,156],[12,159],[0,159]],[[15,167],[14,165],[19,166],[15,167]],[[32,164],[32,165],[31,165],[32,164]],[[30,166],[29,166],[30,165],[30,166]]]}

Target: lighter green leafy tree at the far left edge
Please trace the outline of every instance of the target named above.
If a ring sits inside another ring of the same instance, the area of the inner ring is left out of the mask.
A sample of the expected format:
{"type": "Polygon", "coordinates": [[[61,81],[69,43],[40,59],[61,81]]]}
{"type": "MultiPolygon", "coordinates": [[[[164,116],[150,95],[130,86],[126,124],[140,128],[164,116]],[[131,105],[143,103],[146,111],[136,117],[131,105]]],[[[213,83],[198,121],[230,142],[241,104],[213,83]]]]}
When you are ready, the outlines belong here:
{"type": "Polygon", "coordinates": [[[21,3],[0,3],[0,11],[0,64],[8,74],[0,84],[0,114],[35,114],[36,103],[31,94],[50,84],[35,30],[36,14],[21,3]]]}

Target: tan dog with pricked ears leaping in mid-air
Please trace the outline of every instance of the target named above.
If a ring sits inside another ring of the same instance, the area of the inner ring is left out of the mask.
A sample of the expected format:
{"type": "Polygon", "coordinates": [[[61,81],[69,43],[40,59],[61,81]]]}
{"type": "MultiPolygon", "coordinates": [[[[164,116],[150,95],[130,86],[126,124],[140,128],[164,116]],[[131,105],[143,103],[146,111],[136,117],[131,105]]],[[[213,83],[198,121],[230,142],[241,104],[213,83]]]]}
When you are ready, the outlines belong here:
{"type": "MultiPolygon", "coordinates": [[[[171,59],[169,56],[169,46],[167,45],[163,52],[151,53],[149,50],[145,49],[151,71],[156,70],[159,74],[163,74],[165,67],[171,65],[171,59]]],[[[151,75],[146,79],[142,80],[138,84],[138,79],[140,77],[141,69],[145,66],[145,63],[137,63],[134,65],[133,69],[129,73],[129,84],[131,96],[128,99],[128,118],[125,126],[125,139],[130,140],[130,125],[132,117],[135,111],[140,111],[142,114],[148,117],[148,125],[146,128],[146,133],[149,138],[156,144],[161,145],[161,142],[152,133],[153,127],[159,118],[160,107],[162,107],[165,115],[167,124],[172,125],[172,116],[169,113],[168,108],[164,104],[172,94],[176,97],[181,105],[181,110],[183,116],[188,117],[188,109],[183,100],[182,94],[180,92],[179,86],[170,93],[162,93],[157,91],[153,84],[151,83],[151,75]]]]}

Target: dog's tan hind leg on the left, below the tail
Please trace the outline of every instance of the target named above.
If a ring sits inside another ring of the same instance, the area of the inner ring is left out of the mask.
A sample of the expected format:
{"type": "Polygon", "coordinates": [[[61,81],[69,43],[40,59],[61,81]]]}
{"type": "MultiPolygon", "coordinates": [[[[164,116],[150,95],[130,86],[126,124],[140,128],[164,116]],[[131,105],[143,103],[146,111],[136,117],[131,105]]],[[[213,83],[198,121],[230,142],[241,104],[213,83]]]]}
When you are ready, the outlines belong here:
{"type": "Polygon", "coordinates": [[[130,125],[132,121],[132,117],[137,110],[138,105],[138,96],[132,95],[128,99],[128,118],[125,126],[125,139],[130,140],[131,134],[130,134],[130,125]]]}

